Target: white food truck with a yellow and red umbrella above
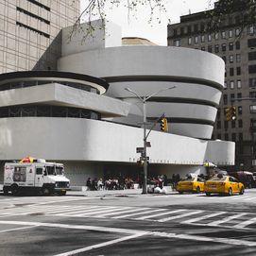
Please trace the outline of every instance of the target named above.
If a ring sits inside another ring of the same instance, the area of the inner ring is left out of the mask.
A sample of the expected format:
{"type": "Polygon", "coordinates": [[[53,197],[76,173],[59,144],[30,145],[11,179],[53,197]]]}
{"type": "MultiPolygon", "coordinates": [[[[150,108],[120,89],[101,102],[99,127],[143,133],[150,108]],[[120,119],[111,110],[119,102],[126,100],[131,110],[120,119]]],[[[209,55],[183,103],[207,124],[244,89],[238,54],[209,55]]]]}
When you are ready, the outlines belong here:
{"type": "Polygon", "coordinates": [[[6,162],[4,194],[30,193],[37,195],[66,195],[70,180],[64,176],[62,163],[34,160],[33,162],[6,162]]]}

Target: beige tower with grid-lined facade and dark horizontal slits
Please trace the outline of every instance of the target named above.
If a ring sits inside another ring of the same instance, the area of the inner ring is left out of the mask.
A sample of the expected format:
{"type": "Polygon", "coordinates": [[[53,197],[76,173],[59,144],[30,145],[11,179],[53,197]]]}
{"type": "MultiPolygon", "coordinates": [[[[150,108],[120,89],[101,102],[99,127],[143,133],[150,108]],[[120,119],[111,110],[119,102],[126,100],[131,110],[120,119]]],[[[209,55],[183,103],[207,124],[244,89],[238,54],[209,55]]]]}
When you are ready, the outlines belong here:
{"type": "Polygon", "coordinates": [[[60,29],[79,12],[79,0],[0,0],[0,73],[56,70],[60,29]]]}

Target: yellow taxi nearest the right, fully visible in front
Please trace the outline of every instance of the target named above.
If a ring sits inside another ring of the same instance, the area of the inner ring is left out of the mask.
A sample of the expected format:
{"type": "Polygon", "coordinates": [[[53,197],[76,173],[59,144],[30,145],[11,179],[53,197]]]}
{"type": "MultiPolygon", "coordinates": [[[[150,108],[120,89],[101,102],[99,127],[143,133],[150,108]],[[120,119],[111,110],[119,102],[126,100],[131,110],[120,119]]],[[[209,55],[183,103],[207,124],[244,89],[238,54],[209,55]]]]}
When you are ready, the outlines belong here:
{"type": "Polygon", "coordinates": [[[232,196],[233,194],[243,195],[245,193],[245,186],[238,179],[229,175],[218,174],[212,179],[208,179],[204,185],[206,196],[211,194],[220,194],[232,196]]]}

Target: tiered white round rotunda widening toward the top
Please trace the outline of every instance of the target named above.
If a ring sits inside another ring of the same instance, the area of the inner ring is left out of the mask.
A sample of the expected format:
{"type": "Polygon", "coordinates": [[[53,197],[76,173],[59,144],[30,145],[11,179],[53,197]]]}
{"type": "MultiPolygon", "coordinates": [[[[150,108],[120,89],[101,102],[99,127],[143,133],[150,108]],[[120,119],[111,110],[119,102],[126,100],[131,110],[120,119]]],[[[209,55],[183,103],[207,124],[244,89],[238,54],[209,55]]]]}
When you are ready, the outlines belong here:
{"type": "Polygon", "coordinates": [[[175,89],[150,98],[147,116],[159,117],[164,112],[171,133],[212,137],[225,72],[224,61],[213,54],[165,46],[111,47],[64,56],[59,70],[105,78],[110,83],[108,95],[136,102],[128,119],[114,119],[132,125],[142,120],[142,111],[136,111],[142,106],[126,87],[147,96],[175,85],[175,89]]]}

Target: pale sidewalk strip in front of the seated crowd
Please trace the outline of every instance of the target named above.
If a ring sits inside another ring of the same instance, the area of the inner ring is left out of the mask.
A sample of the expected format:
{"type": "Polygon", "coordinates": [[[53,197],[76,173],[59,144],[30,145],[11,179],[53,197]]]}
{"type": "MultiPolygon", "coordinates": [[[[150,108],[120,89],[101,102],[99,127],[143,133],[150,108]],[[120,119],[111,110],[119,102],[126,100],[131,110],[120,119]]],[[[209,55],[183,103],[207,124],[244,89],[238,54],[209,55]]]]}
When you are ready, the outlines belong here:
{"type": "Polygon", "coordinates": [[[97,190],[89,191],[85,189],[67,191],[67,196],[156,196],[156,195],[170,195],[177,194],[172,191],[172,188],[164,187],[167,190],[166,194],[142,194],[142,189],[125,189],[125,190],[97,190]]]}

